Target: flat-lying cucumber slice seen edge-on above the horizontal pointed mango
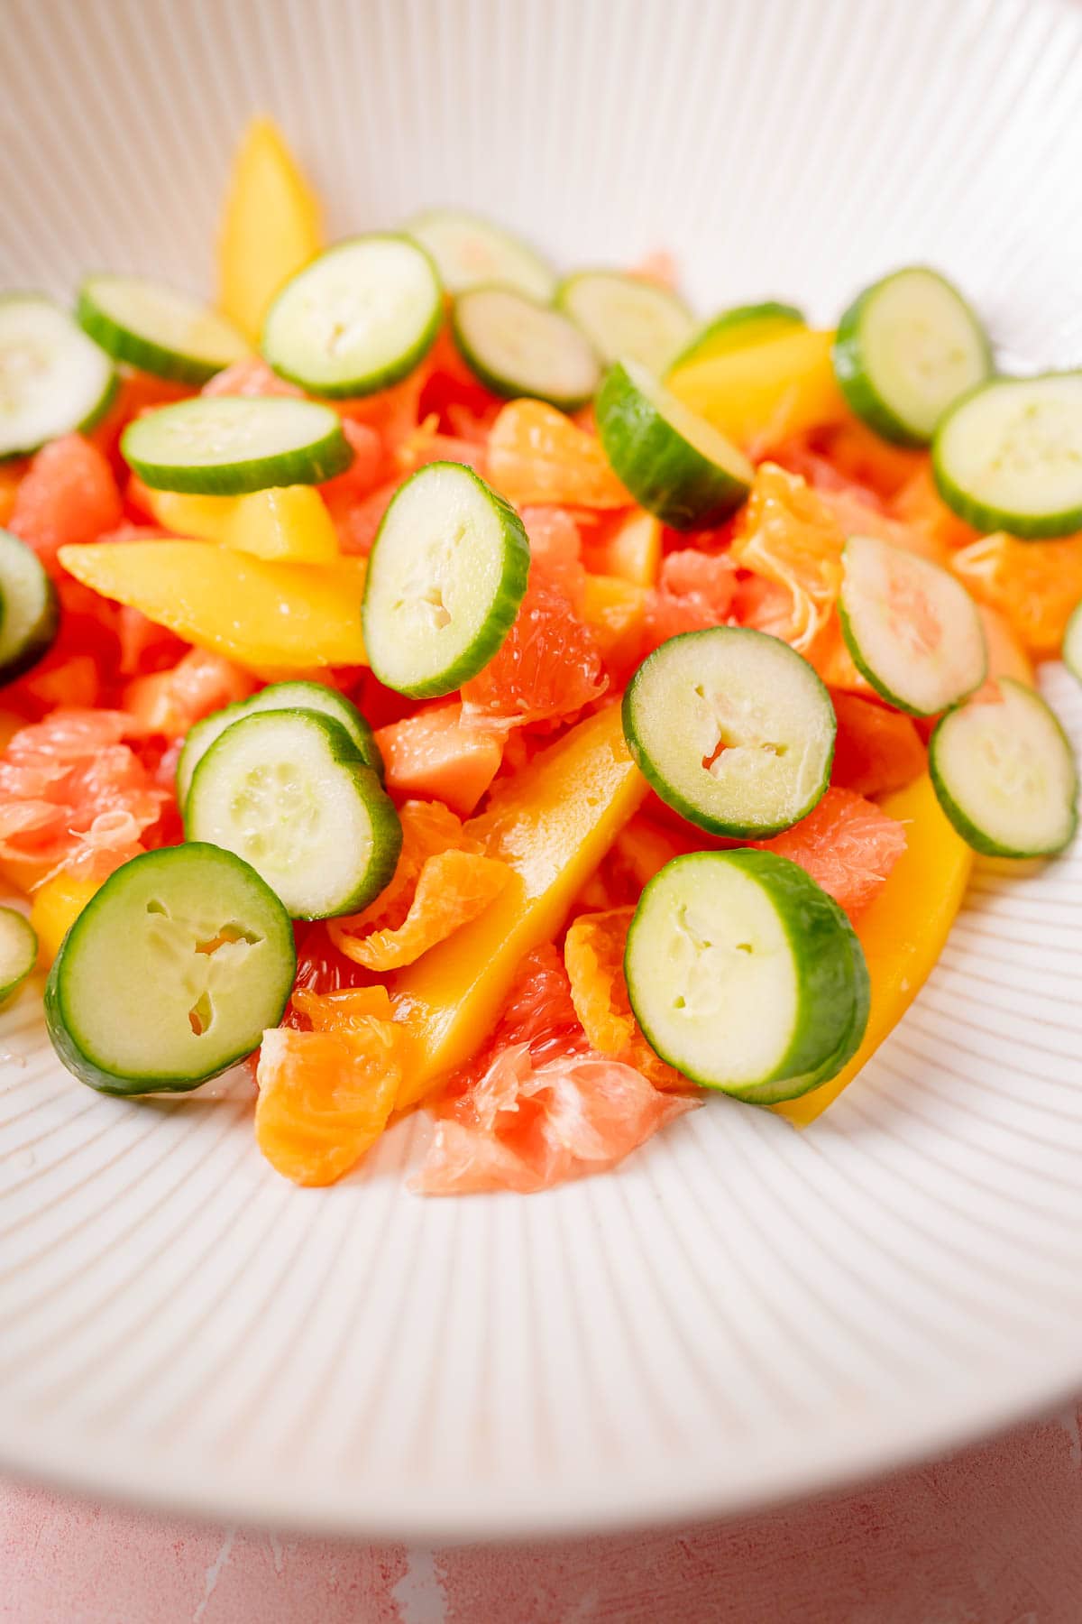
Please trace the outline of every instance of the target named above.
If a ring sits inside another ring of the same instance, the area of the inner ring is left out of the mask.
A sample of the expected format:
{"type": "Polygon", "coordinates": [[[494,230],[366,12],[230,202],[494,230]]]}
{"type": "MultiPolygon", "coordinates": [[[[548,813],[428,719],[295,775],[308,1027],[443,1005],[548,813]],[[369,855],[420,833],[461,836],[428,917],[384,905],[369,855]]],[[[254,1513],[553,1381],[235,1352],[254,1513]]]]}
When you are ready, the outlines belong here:
{"type": "Polygon", "coordinates": [[[282,395],[203,395],[161,406],[128,424],[120,450],[154,490],[208,497],[318,486],[354,460],[337,412],[282,395]]]}

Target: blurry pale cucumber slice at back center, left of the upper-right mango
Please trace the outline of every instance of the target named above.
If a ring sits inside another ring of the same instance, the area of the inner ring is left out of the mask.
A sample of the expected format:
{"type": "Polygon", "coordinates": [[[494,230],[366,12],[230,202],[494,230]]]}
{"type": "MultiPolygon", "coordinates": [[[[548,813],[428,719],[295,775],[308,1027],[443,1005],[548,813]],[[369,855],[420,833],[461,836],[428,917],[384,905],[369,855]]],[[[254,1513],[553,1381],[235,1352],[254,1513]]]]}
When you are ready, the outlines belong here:
{"type": "Polygon", "coordinates": [[[556,289],[556,309],[582,328],[610,365],[618,356],[663,372],[694,331],[683,299],[623,271],[577,271],[556,289]]]}

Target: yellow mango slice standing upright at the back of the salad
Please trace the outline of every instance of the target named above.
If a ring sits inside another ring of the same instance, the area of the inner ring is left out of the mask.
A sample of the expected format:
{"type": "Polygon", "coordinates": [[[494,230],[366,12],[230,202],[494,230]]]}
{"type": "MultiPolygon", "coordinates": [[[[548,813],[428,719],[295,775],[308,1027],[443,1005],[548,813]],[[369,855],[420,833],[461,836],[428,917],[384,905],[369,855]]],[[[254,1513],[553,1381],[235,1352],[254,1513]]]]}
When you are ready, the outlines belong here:
{"type": "Polygon", "coordinates": [[[281,130],[253,119],[234,159],[217,245],[221,309],[258,339],[274,294],[321,247],[320,205],[281,130]]]}

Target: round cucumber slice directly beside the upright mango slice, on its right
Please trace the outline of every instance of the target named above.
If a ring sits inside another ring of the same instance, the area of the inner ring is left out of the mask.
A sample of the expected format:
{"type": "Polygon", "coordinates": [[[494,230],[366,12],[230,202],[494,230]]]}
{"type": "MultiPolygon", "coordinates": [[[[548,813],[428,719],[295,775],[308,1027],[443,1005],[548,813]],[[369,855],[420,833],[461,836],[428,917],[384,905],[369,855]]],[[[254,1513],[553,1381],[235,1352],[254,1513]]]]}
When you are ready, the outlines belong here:
{"type": "Polygon", "coordinates": [[[373,395],[423,361],[443,320],[436,268],[409,237],[347,237],[286,283],[263,359],[313,395],[373,395]]]}

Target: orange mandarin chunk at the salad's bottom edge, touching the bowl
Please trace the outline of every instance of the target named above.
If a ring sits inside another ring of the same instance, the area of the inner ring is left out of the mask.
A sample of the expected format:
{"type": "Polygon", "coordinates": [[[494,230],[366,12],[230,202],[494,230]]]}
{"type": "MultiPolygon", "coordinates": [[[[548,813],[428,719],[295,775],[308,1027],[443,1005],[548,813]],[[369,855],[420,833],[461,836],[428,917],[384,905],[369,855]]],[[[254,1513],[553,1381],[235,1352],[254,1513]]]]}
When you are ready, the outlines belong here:
{"type": "Polygon", "coordinates": [[[359,1015],[349,1028],[263,1033],[256,1145],[294,1184],[334,1184],[376,1142],[402,1078],[401,1033],[359,1015]]]}

